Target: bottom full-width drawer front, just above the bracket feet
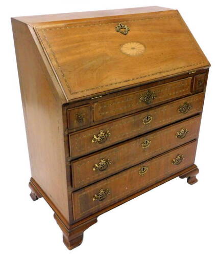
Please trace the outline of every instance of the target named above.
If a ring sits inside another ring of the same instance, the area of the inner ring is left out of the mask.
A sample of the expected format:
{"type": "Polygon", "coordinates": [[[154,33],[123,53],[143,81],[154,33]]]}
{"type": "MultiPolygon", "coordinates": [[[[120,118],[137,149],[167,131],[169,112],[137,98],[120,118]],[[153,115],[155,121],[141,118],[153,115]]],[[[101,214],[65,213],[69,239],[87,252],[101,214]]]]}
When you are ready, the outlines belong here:
{"type": "Polygon", "coordinates": [[[191,142],[73,193],[75,219],[93,214],[192,165],[196,146],[197,141],[191,142]]]}

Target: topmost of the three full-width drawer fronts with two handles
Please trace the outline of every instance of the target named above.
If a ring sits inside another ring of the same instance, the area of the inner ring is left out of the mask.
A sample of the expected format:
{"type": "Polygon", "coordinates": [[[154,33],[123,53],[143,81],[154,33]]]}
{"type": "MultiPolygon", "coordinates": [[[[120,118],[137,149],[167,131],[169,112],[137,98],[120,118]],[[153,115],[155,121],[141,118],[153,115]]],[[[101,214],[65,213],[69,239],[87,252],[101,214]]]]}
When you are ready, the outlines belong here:
{"type": "Polygon", "coordinates": [[[72,158],[81,157],[117,142],[144,134],[165,124],[194,115],[202,111],[203,101],[204,93],[200,93],[158,106],[154,109],[96,125],[90,129],[72,133],[69,135],[70,156],[72,158]],[[179,112],[180,106],[184,105],[185,102],[189,103],[192,108],[187,113],[179,112]],[[103,133],[104,136],[101,136],[103,133]],[[95,138],[100,138],[100,140],[95,138]]]}

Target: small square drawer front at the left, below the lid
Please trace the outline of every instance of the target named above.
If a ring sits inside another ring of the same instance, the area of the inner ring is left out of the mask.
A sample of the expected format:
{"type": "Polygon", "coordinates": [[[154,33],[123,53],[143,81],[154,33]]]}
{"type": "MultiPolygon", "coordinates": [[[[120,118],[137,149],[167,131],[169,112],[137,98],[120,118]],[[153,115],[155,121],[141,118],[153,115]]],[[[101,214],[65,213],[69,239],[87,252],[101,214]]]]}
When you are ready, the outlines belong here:
{"type": "Polygon", "coordinates": [[[68,129],[76,129],[90,124],[90,106],[83,105],[67,110],[68,129]]]}

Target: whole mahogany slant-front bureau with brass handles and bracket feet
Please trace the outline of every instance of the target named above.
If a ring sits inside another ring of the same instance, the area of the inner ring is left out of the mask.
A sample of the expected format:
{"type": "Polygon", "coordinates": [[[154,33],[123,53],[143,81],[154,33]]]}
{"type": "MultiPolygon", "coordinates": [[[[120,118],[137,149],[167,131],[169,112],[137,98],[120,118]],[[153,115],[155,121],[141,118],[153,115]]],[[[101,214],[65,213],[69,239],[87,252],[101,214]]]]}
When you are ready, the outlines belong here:
{"type": "Polygon", "coordinates": [[[32,178],[68,249],[194,164],[210,64],[177,10],[12,18],[32,178]]]}

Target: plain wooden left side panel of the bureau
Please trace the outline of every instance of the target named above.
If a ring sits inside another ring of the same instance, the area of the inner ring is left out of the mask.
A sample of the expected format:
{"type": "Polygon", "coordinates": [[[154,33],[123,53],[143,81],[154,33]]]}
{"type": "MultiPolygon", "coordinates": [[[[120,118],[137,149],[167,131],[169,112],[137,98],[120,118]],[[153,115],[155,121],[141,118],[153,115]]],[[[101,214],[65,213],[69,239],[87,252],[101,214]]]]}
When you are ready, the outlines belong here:
{"type": "Polygon", "coordinates": [[[12,19],[33,179],[69,221],[62,102],[31,29],[12,19]]]}

